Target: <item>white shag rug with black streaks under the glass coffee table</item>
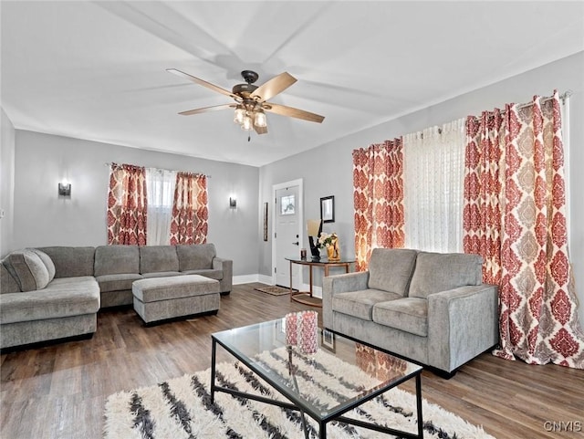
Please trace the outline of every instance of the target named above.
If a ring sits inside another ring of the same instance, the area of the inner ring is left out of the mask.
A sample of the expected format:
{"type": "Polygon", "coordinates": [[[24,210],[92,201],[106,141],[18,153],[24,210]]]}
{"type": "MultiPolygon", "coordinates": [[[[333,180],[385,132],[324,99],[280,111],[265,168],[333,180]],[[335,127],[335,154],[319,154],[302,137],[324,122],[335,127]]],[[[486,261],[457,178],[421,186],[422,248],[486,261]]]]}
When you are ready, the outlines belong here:
{"type": "MultiPolygon", "coordinates": [[[[285,350],[264,352],[259,358],[287,377],[285,350]]],[[[295,357],[295,366],[299,387],[318,395],[313,402],[325,406],[331,404],[338,393],[354,394],[363,382],[378,382],[357,366],[339,361],[324,350],[318,350],[309,361],[295,357]]],[[[216,380],[223,387],[287,401],[255,373],[236,361],[217,364],[216,380]]],[[[211,370],[208,369],[151,387],[110,395],[105,406],[104,438],[304,438],[299,412],[237,398],[224,392],[215,392],[215,401],[211,404],[210,382],[211,370]]],[[[392,389],[345,415],[415,434],[415,407],[415,395],[392,389]]],[[[459,416],[425,400],[422,403],[422,417],[426,439],[494,439],[481,427],[467,423],[459,416]]],[[[309,416],[306,419],[310,437],[317,438],[318,423],[309,416]]],[[[333,421],[327,425],[327,437],[391,439],[393,436],[333,421]]]]}

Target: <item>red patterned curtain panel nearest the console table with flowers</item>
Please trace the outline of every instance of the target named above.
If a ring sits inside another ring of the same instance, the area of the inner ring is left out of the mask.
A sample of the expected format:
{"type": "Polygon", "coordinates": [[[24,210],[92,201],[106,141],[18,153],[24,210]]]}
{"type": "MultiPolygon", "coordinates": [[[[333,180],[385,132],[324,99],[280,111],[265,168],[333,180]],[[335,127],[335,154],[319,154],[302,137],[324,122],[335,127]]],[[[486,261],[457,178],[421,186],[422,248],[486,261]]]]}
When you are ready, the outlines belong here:
{"type": "Polygon", "coordinates": [[[401,138],[353,151],[356,268],[368,267],[376,247],[402,247],[403,154],[401,138]]]}

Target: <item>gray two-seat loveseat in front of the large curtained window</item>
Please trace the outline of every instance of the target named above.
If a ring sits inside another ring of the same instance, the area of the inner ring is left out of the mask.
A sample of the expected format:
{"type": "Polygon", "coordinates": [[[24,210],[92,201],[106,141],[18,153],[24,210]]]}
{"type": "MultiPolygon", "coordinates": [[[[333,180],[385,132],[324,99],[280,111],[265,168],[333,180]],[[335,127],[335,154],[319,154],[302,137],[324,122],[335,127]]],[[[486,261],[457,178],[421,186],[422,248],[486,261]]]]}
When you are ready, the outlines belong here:
{"type": "Polygon", "coordinates": [[[323,324],[451,377],[498,342],[482,258],[376,248],[369,271],[323,279],[323,324]]]}

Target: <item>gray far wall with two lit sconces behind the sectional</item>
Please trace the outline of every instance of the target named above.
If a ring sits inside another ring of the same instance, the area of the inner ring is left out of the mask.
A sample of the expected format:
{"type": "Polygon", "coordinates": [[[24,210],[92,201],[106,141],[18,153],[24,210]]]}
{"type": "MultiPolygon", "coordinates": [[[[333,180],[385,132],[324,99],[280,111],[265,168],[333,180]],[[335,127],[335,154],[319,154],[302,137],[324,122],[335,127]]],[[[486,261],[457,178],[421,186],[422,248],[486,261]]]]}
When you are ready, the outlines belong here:
{"type": "Polygon", "coordinates": [[[132,163],[209,175],[207,240],[234,260],[234,275],[257,274],[258,168],[20,130],[15,162],[14,248],[107,244],[105,163],[132,163]],[[63,179],[70,198],[57,196],[63,179]],[[231,194],[236,210],[229,209],[231,194]]]}

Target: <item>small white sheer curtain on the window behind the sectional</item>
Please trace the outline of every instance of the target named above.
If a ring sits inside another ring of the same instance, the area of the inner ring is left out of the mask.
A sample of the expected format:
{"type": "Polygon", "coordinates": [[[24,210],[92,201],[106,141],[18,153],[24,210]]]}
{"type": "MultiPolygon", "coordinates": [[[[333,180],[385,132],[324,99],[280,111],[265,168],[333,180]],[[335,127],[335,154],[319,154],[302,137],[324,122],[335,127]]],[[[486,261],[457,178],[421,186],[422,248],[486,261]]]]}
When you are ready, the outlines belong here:
{"type": "Polygon", "coordinates": [[[170,243],[172,200],[176,172],[162,169],[146,169],[148,193],[147,246],[164,246],[170,243]]]}

